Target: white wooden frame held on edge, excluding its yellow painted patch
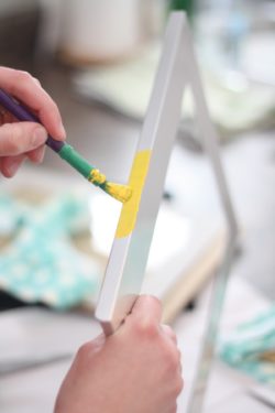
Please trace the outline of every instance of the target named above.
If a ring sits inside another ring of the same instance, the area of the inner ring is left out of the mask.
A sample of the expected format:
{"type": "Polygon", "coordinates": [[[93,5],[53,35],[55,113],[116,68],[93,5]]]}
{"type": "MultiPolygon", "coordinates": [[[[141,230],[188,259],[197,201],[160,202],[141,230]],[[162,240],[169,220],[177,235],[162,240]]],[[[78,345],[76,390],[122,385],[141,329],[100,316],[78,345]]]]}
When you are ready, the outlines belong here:
{"type": "MultiPolygon", "coordinates": [[[[173,12],[164,39],[163,53],[139,140],[136,153],[150,151],[151,159],[139,202],[135,225],[125,237],[116,237],[106,270],[96,317],[107,335],[118,328],[141,291],[146,260],[162,199],[166,170],[180,120],[182,99],[190,87],[196,106],[196,121],[220,194],[228,227],[223,265],[216,281],[201,361],[188,411],[200,411],[206,382],[215,351],[215,340],[223,295],[232,261],[238,226],[219,157],[217,135],[210,121],[195,58],[186,17],[173,12]]],[[[121,219],[121,218],[120,218],[121,219]]]]}

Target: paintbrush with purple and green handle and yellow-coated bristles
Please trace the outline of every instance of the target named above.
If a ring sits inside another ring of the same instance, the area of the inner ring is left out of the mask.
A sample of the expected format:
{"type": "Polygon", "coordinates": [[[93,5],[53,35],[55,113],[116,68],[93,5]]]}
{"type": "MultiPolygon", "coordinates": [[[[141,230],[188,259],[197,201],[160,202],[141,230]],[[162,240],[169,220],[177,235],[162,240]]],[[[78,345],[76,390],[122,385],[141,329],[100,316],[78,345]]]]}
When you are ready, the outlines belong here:
{"type": "MultiPolygon", "coordinates": [[[[22,104],[16,101],[12,96],[2,89],[0,89],[0,105],[12,113],[18,120],[41,123],[38,118],[36,118],[22,104]]],[[[125,203],[130,199],[132,195],[130,186],[107,181],[106,176],[98,169],[90,165],[68,143],[57,141],[48,134],[46,144],[91,184],[100,187],[107,194],[111,195],[121,203],[125,203]]]]}

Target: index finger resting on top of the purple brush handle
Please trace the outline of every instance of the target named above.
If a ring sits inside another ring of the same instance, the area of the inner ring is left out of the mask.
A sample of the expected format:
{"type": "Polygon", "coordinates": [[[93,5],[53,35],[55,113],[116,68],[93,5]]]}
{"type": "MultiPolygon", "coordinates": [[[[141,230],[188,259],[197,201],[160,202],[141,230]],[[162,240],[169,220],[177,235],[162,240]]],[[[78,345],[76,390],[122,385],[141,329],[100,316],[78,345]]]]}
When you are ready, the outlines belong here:
{"type": "Polygon", "coordinates": [[[56,104],[29,73],[0,67],[0,87],[33,109],[53,138],[65,139],[66,132],[56,104]]]}

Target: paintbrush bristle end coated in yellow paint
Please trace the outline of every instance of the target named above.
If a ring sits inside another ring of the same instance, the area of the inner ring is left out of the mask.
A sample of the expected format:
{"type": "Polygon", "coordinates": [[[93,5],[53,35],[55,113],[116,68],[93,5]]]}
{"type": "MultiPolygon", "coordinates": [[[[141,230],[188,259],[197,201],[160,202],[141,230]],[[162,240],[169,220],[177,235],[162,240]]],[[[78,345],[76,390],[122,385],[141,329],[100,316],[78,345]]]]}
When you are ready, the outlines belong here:
{"type": "Polygon", "coordinates": [[[129,185],[114,184],[106,180],[106,175],[99,170],[91,170],[88,181],[96,186],[100,186],[107,194],[121,203],[128,202],[132,196],[132,189],[129,185]]]}

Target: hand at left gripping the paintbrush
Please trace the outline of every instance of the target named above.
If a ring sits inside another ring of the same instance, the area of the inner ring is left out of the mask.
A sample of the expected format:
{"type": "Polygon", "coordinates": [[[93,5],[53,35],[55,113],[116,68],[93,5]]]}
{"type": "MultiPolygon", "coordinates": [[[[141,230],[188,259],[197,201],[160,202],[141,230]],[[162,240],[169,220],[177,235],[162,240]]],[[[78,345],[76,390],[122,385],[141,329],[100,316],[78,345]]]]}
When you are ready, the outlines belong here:
{"type": "Polygon", "coordinates": [[[0,172],[11,177],[26,157],[42,162],[47,133],[64,140],[65,130],[57,106],[29,73],[0,67],[0,88],[22,101],[44,124],[19,122],[0,107],[0,172]]]}

